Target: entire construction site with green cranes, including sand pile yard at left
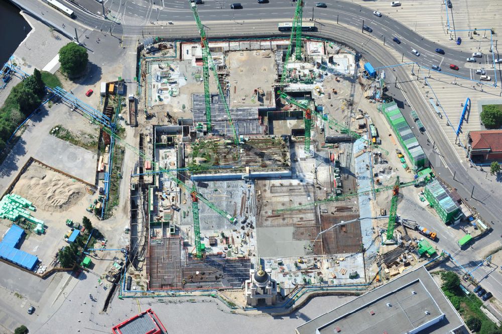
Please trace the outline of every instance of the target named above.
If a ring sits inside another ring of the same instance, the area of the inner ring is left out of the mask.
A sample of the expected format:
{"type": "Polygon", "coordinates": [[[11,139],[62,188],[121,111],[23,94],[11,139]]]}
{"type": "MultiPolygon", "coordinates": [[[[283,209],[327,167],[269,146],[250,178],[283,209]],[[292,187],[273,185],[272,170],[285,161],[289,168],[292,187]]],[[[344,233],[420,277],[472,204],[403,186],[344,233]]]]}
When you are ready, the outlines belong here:
{"type": "MultiPolygon", "coordinates": [[[[219,289],[243,308],[305,287],[383,284],[439,255],[431,221],[458,227],[460,240],[488,231],[435,178],[416,138],[420,120],[406,122],[383,75],[354,50],[302,36],[301,3],[289,39],[231,41],[209,41],[192,3],[200,42],[145,38],[138,91],[126,93],[121,78],[102,82],[102,112],[55,88],[98,132],[88,136],[95,170],[85,168],[95,182],[31,162],[6,192],[2,218],[22,215],[23,227],[45,231],[52,213],[106,221],[117,207],[129,216],[114,232],[126,246],[90,255],[113,260],[102,278],[120,282],[121,296],[219,289]],[[398,214],[400,205],[418,213],[398,214]]],[[[53,254],[79,228],[38,236],[53,254]]],[[[55,267],[56,257],[26,269],[55,267]]]]}

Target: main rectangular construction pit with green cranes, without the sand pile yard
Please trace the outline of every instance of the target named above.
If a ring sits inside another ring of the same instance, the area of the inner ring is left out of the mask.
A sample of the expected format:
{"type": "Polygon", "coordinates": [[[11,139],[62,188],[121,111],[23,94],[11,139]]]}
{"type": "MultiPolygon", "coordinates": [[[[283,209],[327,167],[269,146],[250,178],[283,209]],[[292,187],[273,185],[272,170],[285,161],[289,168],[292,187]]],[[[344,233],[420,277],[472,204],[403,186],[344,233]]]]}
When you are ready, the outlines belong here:
{"type": "Polygon", "coordinates": [[[200,43],[141,51],[122,293],[243,289],[237,304],[270,304],[434,255],[428,230],[397,215],[400,188],[419,205],[434,175],[360,55],[301,29],[210,42],[198,26],[200,43]]]}

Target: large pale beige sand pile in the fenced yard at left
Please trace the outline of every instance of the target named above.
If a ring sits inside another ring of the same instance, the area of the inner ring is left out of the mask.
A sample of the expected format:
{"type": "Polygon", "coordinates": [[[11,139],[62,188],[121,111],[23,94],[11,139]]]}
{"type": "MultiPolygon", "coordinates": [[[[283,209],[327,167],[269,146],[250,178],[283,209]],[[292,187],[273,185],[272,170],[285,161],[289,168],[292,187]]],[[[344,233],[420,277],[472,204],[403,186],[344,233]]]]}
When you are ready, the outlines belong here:
{"type": "Polygon", "coordinates": [[[20,177],[13,193],[33,202],[44,211],[65,211],[85,193],[82,183],[33,163],[20,177]]]}

